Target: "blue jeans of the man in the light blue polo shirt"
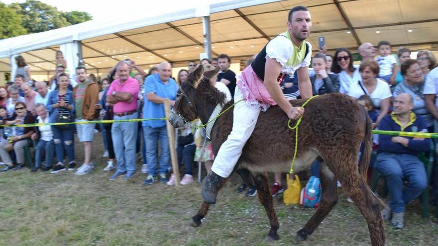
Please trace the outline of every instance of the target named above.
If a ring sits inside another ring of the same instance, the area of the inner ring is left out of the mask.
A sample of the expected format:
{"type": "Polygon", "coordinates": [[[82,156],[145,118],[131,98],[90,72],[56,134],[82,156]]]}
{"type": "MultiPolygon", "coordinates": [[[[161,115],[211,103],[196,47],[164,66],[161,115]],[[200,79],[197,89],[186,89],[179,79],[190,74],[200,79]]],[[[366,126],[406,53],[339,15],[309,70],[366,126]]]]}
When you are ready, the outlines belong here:
{"type": "Polygon", "coordinates": [[[146,159],[149,167],[149,175],[156,176],[159,173],[166,173],[170,168],[170,149],[167,128],[143,127],[144,140],[146,142],[146,159]],[[157,144],[160,141],[160,167],[157,168],[157,144]]]}

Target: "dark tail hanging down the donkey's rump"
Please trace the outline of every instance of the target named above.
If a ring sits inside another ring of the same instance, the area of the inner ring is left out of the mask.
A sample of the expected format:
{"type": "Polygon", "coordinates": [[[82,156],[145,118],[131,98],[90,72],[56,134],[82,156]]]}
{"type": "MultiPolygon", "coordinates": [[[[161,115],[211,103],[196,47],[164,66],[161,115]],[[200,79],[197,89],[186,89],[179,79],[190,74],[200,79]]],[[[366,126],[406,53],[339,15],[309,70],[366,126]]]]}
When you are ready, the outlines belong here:
{"type": "Polygon", "coordinates": [[[361,112],[365,114],[365,136],[363,138],[363,152],[359,160],[359,173],[367,180],[368,167],[370,164],[371,154],[373,151],[373,135],[372,135],[372,121],[367,112],[361,107],[361,112]]]}

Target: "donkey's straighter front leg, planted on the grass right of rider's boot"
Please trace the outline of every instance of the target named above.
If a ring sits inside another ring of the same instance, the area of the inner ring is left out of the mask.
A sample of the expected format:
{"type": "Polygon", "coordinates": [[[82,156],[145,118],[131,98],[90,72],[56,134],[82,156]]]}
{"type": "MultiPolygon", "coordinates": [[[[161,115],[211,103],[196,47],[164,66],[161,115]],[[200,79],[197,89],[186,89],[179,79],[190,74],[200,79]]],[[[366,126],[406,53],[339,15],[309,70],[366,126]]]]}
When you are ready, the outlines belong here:
{"type": "Polygon", "coordinates": [[[269,230],[268,236],[265,237],[266,241],[278,240],[280,237],[277,234],[278,230],[278,218],[275,214],[274,203],[272,200],[271,192],[268,186],[268,174],[267,173],[257,173],[253,174],[253,179],[255,187],[257,188],[258,199],[260,203],[265,207],[266,213],[269,217],[269,224],[271,230],[269,230]]]}

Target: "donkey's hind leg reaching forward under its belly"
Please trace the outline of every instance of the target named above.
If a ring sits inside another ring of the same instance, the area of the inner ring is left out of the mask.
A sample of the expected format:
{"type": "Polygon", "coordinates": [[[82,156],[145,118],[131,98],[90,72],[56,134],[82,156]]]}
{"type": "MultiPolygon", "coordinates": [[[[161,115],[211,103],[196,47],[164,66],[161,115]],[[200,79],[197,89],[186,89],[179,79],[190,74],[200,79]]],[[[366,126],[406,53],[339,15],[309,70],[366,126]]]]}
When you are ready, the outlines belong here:
{"type": "Polygon", "coordinates": [[[325,163],[321,163],[320,180],[322,186],[321,203],[315,214],[306,223],[303,229],[297,232],[297,240],[304,241],[311,235],[320,223],[330,213],[337,203],[336,179],[325,163]]]}

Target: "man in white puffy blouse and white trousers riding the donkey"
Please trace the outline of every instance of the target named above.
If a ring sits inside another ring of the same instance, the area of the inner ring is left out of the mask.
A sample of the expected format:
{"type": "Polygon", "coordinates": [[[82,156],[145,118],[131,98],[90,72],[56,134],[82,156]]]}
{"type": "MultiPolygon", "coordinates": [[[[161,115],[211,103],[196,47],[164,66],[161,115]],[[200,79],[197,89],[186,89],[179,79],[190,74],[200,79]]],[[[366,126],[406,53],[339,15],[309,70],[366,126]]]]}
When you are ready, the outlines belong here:
{"type": "Polygon", "coordinates": [[[301,107],[293,107],[283,95],[279,82],[286,75],[298,73],[298,87],[302,98],[312,96],[309,64],[312,46],[305,42],[310,35],[312,20],[305,6],[289,11],[287,31],[268,42],[255,60],[239,76],[234,92],[233,126],[226,141],[215,157],[212,172],[204,179],[202,196],[209,204],[216,203],[218,188],[232,172],[251,136],[260,111],[277,105],[289,119],[296,120],[304,113],[301,107]]]}

